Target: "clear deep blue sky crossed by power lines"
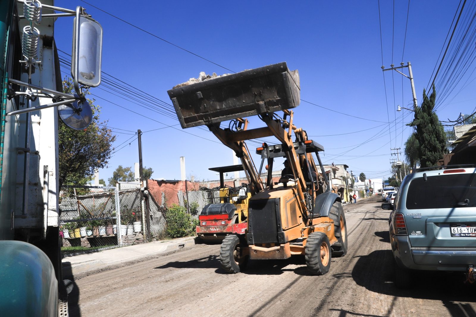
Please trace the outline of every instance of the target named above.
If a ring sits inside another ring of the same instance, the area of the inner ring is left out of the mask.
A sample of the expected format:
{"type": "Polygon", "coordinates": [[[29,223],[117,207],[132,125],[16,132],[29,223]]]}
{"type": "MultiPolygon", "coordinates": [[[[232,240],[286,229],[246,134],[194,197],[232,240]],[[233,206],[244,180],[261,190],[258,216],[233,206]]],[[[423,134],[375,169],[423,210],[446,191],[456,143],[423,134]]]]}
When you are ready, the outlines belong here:
{"type": "MultiPolygon", "coordinates": [[[[297,126],[324,146],[325,164],[347,164],[354,174],[364,172],[367,178],[390,175],[390,148],[402,148],[403,152],[411,132],[405,123],[413,117],[407,110],[396,111],[397,105],[412,108],[410,81],[403,78],[402,87],[402,76],[387,71],[384,86],[382,55],[387,68],[392,62],[399,66],[406,34],[403,61],[412,64],[417,99],[421,101],[459,4],[411,0],[405,33],[408,1],[395,1],[394,9],[393,1],[382,0],[380,33],[377,0],[89,3],[235,72],[286,61],[290,69],[299,70],[301,98],[315,104],[301,102],[294,110],[297,126]]],[[[74,9],[71,4],[55,1],[57,6],[74,9]]],[[[84,1],[74,4],[85,7],[104,29],[102,70],[114,76],[114,81],[135,87],[122,89],[125,95],[120,98],[104,81],[110,77],[103,77],[103,84],[91,89],[102,107],[101,119],[109,120],[108,125],[117,132],[117,152],[109,160],[109,168],[99,171],[100,178],[107,180],[119,165],[133,166],[138,161],[137,139],[131,132],[137,129],[149,131],[142,135],[143,161],[153,168],[153,178],[179,179],[181,156],[186,159],[187,175],[205,180],[218,178],[208,168],[233,164],[231,150],[217,143],[203,127],[182,131],[175,114],[170,112],[167,90],[198,77],[200,71],[230,71],[84,1]],[[136,89],[142,91],[141,97],[134,97],[136,89]]],[[[467,1],[466,9],[464,14],[474,14],[475,1],[467,1]]],[[[467,19],[464,14],[461,25],[467,19]]],[[[58,19],[55,38],[60,50],[70,53],[71,34],[72,19],[58,19]]],[[[62,52],[60,56],[68,58],[62,52]]],[[[465,77],[454,90],[447,92],[441,84],[445,99],[437,109],[440,120],[473,112],[475,63],[468,65],[465,77]]],[[[69,69],[63,70],[69,73],[69,69]]],[[[439,77],[445,78],[445,73],[442,71],[439,77]]],[[[251,123],[257,127],[256,120],[251,123]]],[[[258,144],[251,142],[248,146],[254,149],[258,144]]],[[[276,169],[281,166],[275,165],[276,169]]]]}

